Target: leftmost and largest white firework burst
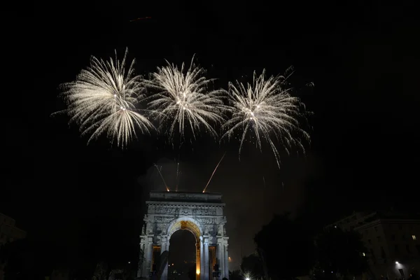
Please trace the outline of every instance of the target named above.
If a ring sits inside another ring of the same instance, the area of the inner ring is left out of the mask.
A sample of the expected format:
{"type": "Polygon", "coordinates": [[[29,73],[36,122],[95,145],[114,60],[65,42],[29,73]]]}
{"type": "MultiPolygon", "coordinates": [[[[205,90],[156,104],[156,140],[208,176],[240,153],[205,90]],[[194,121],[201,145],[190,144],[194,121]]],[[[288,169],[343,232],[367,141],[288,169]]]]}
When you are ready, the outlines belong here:
{"type": "Polygon", "coordinates": [[[143,87],[141,77],[134,75],[135,60],[126,69],[127,52],[122,61],[117,54],[115,61],[91,57],[90,66],[80,71],[74,82],[62,85],[70,123],[77,123],[82,135],[91,134],[87,144],[106,134],[124,147],[136,137],[136,127],[146,134],[154,128],[134,107],[143,97],[143,87]]]}

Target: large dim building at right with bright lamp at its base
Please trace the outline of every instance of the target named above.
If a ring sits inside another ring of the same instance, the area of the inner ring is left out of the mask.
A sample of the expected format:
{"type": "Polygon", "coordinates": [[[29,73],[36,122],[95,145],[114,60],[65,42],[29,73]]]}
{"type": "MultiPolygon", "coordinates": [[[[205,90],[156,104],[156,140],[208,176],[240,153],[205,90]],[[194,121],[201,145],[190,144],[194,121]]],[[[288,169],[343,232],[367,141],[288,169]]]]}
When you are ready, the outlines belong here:
{"type": "Polygon", "coordinates": [[[375,279],[407,279],[420,272],[420,217],[395,213],[354,213],[332,225],[355,230],[367,248],[375,279]]]}

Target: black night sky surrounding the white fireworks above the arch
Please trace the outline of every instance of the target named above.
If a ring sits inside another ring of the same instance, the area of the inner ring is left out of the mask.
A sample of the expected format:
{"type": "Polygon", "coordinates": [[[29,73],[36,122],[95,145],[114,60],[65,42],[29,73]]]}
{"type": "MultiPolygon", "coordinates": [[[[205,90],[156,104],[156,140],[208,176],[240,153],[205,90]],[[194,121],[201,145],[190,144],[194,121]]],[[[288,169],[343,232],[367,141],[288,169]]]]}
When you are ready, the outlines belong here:
{"type": "Polygon", "coordinates": [[[188,191],[201,191],[227,152],[209,191],[223,193],[227,203],[233,260],[253,251],[253,235],[274,212],[324,223],[353,209],[415,209],[414,1],[116,2],[39,3],[28,16],[6,12],[11,77],[3,92],[0,212],[31,238],[59,244],[67,255],[94,259],[108,252],[130,260],[145,195],[164,190],[153,162],[173,185],[177,151],[151,138],[124,152],[106,141],[86,146],[66,117],[50,118],[64,109],[60,83],[73,80],[90,55],[109,57],[126,46],[138,73],[196,54],[221,86],[254,69],[275,75],[290,65],[296,85],[314,82],[297,92],[314,112],[306,159],[283,158],[279,171],[271,153],[249,148],[239,162],[237,146],[219,147],[205,136],[181,152],[180,189],[188,191]],[[152,19],[130,22],[144,16],[152,19]]]}

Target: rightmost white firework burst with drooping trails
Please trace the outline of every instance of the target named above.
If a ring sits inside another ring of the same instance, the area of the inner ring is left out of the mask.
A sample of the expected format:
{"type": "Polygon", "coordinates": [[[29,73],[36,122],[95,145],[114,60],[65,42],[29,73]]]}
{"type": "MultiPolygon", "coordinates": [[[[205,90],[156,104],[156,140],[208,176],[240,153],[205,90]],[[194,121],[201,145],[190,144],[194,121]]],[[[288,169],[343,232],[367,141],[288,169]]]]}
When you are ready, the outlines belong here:
{"type": "Polygon", "coordinates": [[[253,83],[244,85],[237,81],[236,85],[229,83],[228,97],[230,99],[232,118],[223,124],[225,130],[223,138],[228,140],[241,133],[239,145],[239,160],[241,148],[246,141],[247,134],[253,134],[255,144],[261,148],[261,138],[265,139],[271,147],[278,167],[280,168],[280,156],[274,140],[279,141],[281,146],[290,153],[290,149],[296,146],[304,153],[302,141],[309,142],[309,134],[300,128],[297,118],[304,117],[300,109],[304,104],[297,97],[292,97],[290,88],[286,87],[284,76],[271,76],[265,78],[265,70],[260,76],[254,72],[253,83]],[[300,137],[293,137],[297,133],[300,137]]]}

